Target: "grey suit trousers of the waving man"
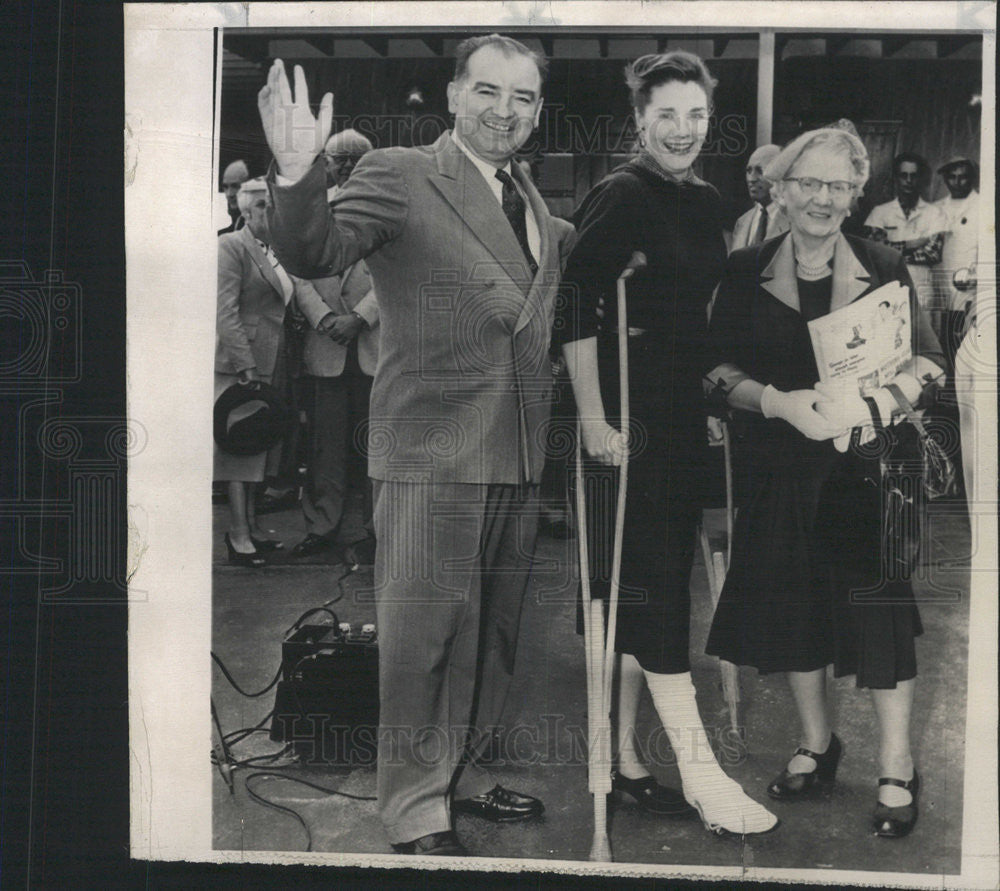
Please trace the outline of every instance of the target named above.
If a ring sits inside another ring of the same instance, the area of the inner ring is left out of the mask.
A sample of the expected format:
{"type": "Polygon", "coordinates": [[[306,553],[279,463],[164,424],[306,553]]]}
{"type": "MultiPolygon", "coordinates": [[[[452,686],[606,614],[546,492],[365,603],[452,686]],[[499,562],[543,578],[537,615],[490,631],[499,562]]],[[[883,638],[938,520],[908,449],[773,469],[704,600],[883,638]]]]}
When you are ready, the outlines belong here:
{"type": "Polygon", "coordinates": [[[451,828],[514,673],[538,487],[374,480],[378,801],[396,844],[451,828]]]}

